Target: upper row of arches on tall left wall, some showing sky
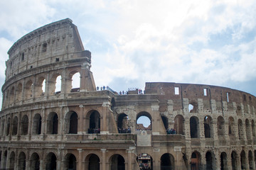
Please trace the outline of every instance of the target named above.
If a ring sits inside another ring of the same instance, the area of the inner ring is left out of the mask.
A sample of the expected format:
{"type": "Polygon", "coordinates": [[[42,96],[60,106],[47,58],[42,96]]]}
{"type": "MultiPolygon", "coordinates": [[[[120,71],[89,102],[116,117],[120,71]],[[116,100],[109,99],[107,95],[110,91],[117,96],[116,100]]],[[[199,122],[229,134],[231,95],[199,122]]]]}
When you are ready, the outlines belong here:
{"type": "Polygon", "coordinates": [[[62,79],[62,73],[55,73],[47,79],[48,75],[40,75],[36,79],[27,79],[25,81],[18,81],[15,85],[9,87],[4,92],[3,106],[11,103],[16,103],[30,98],[38,98],[41,96],[60,93],[76,92],[80,89],[80,72],[79,70],[72,70],[68,77],[62,79]],[[65,82],[64,82],[65,81],[65,82]],[[65,84],[65,89],[62,84],[65,84]]]}

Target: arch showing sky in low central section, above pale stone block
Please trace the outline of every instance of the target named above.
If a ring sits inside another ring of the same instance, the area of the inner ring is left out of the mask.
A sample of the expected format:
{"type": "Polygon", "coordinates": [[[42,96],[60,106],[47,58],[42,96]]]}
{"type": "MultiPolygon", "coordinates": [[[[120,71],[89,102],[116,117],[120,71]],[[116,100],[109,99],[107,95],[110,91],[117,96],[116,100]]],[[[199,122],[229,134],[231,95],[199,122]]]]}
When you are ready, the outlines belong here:
{"type": "Polygon", "coordinates": [[[151,115],[147,112],[137,114],[136,130],[152,130],[151,115]]]}

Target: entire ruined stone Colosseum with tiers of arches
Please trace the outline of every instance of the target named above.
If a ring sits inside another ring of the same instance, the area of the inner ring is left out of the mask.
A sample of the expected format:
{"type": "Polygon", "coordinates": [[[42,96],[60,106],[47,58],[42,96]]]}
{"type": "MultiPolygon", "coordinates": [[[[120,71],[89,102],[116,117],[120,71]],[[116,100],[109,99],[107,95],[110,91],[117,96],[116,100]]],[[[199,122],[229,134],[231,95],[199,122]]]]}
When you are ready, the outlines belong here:
{"type": "Polygon", "coordinates": [[[69,18],[24,35],[8,54],[1,169],[255,169],[251,94],[171,82],[98,89],[69,18]],[[142,116],[149,127],[137,123],[142,116]]]}

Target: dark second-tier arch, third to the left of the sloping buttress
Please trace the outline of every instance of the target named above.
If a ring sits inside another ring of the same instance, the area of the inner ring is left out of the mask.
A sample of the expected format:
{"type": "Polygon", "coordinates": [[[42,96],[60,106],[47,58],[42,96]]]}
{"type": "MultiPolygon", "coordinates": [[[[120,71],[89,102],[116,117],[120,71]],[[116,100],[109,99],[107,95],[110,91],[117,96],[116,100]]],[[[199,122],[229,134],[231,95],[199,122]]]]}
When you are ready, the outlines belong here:
{"type": "Polygon", "coordinates": [[[55,112],[52,112],[48,115],[47,133],[58,134],[58,115],[55,112]]]}

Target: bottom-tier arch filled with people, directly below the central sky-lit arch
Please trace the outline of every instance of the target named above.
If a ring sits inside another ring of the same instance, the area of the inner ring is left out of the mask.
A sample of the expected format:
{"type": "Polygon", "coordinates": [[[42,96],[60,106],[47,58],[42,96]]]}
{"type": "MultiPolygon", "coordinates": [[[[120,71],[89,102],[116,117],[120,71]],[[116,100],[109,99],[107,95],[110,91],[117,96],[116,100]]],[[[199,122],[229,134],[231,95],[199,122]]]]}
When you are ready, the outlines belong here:
{"type": "Polygon", "coordinates": [[[137,157],[137,162],[140,169],[151,169],[153,170],[153,159],[149,154],[143,153],[139,154],[137,157]]]}

